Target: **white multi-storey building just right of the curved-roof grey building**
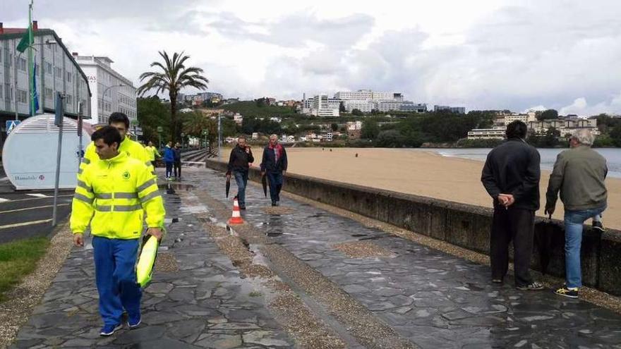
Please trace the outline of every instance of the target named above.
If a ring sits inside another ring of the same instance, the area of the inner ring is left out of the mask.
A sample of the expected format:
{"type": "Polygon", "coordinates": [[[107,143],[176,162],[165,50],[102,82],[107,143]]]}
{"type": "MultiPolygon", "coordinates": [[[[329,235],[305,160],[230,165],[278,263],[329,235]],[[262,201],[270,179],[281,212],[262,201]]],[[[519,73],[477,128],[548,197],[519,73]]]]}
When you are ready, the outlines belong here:
{"type": "Polygon", "coordinates": [[[106,56],[79,56],[74,58],[88,77],[92,92],[90,123],[108,123],[110,114],[120,111],[130,122],[137,120],[136,88],[128,78],[112,69],[114,63],[106,56]]]}

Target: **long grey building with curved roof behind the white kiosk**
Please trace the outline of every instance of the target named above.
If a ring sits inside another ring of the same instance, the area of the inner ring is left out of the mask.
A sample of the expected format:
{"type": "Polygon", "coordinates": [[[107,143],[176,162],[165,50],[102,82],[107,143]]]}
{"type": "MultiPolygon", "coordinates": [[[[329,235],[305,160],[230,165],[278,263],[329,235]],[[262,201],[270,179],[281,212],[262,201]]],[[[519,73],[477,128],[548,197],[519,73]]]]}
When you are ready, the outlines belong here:
{"type": "MultiPolygon", "coordinates": [[[[39,29],[37,21],[32,22],[35,61],[35,90],[39,107],[35,114],[54,113],[56,92],[65,96],[65,114],[78,116],[80,104],[86,118],[91,115],[88,78],[83,69],[63,44],[61,38],[51,29],[39,29]]],[[[17,51],[25,28],[5,28],[0,23],[0,118],[4,121],[20,120],[30,116],[30,84],[28,79],[28,51],[17,51]]]]}

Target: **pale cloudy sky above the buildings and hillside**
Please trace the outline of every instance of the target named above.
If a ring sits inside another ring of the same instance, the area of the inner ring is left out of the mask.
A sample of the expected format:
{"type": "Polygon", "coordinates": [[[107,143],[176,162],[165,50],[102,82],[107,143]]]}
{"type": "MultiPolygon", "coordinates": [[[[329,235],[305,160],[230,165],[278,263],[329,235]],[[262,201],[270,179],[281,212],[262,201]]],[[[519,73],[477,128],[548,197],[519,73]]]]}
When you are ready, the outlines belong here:
{"type": "MultiPolygon", "coordinates": [[[[0,21],[27,10],[2,0],[0,21]]],[[[621,114],[620,15],[619,0],[35,0],[34,19],[135,85],[158,50],[185,51],[227,97],[372,89],[592,115],[621,114]]]]}

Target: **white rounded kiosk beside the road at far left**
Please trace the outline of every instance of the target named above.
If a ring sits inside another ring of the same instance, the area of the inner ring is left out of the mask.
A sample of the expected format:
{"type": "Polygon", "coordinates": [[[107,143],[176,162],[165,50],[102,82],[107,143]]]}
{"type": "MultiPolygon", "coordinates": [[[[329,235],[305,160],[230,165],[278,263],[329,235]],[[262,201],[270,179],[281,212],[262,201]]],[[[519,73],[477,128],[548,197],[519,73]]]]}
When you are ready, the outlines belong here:
{"type": "MultiPolygon", "coordinates": [[[[80,151],[90,143],[93,131],[90,123],[83,123],[80,149],[78,121],[64,118],[59,188],[76,188],[80,151]]],[[[2,164],[16,190],[54,189],[58,137],[54,114],[31,116],[11,130],[4,142],[2,164]]]]}

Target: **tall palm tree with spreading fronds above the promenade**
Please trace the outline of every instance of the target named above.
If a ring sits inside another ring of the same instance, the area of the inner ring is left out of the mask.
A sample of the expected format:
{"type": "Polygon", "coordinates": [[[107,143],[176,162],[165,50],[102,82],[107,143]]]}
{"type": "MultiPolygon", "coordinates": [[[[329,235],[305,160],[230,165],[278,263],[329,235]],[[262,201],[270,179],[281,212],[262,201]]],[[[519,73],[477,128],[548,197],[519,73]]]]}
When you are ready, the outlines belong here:
{"type": "Polygon", "coordinates": [[[151,67],[159,68],[158,71],[147,71],[140,74],[140,82],[147,80],[136,91],[138,95],[143,96],[147,91],[155,90],[155,94],[168,91],[170,98],[170,120],[172,126],[172,142],[176,142],[176,138],[181,132],[181,128],[177,124],[177,96],[183,87],[195,87],[198,90],[207,90],[209,80],[203,75],[203,69],[197,67],[186,67],[185,63],[190,56],[174,53],[171,57],[166,51],[159,51],[164,62],[153,62],[151,67]]]}

